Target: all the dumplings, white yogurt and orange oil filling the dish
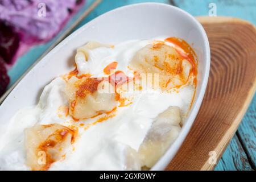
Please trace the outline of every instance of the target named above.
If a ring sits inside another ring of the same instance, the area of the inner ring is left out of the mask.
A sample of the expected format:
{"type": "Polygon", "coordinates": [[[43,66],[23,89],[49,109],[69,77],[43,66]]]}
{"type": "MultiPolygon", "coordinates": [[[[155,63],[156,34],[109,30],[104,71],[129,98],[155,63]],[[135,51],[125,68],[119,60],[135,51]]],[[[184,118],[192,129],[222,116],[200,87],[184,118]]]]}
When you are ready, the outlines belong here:
{"type": "MultiPolygon", "coordinates": [[[[151,169],[193,103],[197,60],[182,39],[77,48],[75,68],[0,133],[0,169],[151,169]]],[[[24,104],[25,105],[25,104],[24,104]]]]}

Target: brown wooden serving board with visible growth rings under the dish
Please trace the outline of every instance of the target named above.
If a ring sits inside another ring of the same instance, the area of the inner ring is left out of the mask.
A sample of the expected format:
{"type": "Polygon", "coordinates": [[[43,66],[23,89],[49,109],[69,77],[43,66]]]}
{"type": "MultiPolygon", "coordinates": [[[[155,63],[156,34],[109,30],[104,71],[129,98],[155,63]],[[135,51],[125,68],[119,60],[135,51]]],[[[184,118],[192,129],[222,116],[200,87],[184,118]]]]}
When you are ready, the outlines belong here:
{"type": "Polygon", "coordinates": [[[191,131],[166,170],[212,170],[236,132],[256,89],[256,29],[245,20],[199,17],[211,64],[207,91],[191,131]],[[210,151],[214,151],[210,153],[210,151]]]}

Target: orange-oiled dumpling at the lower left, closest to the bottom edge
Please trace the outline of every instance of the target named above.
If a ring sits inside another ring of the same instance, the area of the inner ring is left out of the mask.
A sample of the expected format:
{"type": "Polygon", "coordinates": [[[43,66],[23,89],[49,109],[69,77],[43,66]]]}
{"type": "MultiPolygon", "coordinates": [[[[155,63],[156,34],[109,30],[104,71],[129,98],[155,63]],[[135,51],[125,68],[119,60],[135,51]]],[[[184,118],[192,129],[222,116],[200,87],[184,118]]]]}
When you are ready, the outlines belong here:
{"type": "Polygon", "coordinates": [[[47,170],[52,163],[64,158],[75,131],[57,123],[36,125],[25,130],[27,166],[32,170],[47,170]]]}

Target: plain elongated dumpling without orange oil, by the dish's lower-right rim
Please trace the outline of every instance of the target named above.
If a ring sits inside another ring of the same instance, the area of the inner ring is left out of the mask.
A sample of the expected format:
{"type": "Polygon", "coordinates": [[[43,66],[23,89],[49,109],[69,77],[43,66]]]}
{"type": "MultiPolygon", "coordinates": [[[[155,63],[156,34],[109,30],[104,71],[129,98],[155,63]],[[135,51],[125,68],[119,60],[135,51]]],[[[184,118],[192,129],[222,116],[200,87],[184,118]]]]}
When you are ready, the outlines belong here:
{"type": "Polygon", "coordinates": [[[180,133],[180,109],[171,106],[160,113],[152,123],[139,147],[139,158],[143,167],[151,168],[168,150],[180,133]]]}

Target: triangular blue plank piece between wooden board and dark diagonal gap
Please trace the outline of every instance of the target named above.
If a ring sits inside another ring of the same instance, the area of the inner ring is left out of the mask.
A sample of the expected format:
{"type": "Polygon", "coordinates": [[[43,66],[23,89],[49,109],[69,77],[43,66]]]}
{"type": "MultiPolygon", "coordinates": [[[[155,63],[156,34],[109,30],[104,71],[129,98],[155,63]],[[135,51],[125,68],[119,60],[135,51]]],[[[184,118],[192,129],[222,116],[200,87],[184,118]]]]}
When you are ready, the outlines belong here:
{"type": "Polygon", "coordinates": [[[234,135],[226,148],[226,151],[222,155],[222,158],[215,167],[216,171],[251,171],[253,170],[248,162],[245,151],[241,146],[237,135],[234,135]]]}

